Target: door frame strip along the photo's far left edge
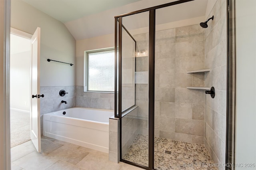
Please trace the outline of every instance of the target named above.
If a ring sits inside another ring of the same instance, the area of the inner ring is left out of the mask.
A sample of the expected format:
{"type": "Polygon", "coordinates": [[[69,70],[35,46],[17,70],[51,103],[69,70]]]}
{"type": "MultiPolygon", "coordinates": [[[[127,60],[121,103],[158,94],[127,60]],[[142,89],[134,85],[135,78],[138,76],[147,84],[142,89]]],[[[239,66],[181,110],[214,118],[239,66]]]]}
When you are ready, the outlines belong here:
{"type": "Polygon", "coordinates": [[[10,169],[10,0],[0,1],[0,169],[10,169]]]}

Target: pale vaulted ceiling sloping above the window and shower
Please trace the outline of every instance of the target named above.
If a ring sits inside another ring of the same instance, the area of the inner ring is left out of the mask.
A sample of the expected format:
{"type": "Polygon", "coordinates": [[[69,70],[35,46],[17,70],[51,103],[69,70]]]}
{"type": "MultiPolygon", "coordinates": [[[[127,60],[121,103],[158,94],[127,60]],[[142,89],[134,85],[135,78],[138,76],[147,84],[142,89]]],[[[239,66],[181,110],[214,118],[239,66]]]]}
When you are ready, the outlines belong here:
{"type": "MultiPolygon", "coordinates": [[[[176,0],[24,0],[64,23],[76,40],[114,33],[114,16],[176,0]]],[[[166,8],[163,20],[173,22],[204,16],[208,0],[166,8]]],[[[164,21],[162,21],[164,22],[164,21]]],[[[136,28],[134,23],[134,28],[136,28]]]]}

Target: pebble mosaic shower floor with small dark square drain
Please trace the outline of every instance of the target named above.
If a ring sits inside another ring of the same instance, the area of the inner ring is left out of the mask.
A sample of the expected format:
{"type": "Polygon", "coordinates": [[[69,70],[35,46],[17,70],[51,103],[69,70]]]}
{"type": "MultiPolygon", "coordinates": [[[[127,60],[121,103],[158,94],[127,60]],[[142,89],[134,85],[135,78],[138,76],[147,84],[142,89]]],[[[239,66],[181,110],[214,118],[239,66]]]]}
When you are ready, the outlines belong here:
{"type": "MultiPolygon", "coordinates": [[[[157,170],[216,170],[202,144],[155,137],[154,145],[154,168],[157,170]]],[[[148,166],[148,136],[138,134],[123,159],[148,166]]]]}

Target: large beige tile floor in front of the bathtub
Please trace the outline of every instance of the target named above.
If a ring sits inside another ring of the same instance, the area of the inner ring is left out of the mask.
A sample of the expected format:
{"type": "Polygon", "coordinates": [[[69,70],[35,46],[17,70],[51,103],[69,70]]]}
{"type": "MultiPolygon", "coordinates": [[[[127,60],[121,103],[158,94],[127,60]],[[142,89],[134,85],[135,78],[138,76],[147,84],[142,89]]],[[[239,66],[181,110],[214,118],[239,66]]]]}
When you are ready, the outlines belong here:
{"type": "Polygon", "coordinates": [[[42,136],[42,153],[32,141],[11,148],[12,170],[142,170],[108,161],[108,154],[42,136]]]}

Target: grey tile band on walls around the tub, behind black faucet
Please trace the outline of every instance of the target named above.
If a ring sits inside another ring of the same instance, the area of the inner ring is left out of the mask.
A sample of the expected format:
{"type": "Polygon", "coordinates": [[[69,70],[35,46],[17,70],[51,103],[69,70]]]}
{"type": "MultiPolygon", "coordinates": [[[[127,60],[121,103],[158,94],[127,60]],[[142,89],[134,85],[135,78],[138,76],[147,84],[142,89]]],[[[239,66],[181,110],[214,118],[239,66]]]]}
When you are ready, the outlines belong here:
{"type": "Polygon", "coordinates": [[[40,87],[40,93],[44,94],[40,98],[41,115],[71,107],[114,110],[114,93],[83,92],[83,86],[40,87]],[[67,92],[63,97],[59,95],[62,89],[67,92]]]}

